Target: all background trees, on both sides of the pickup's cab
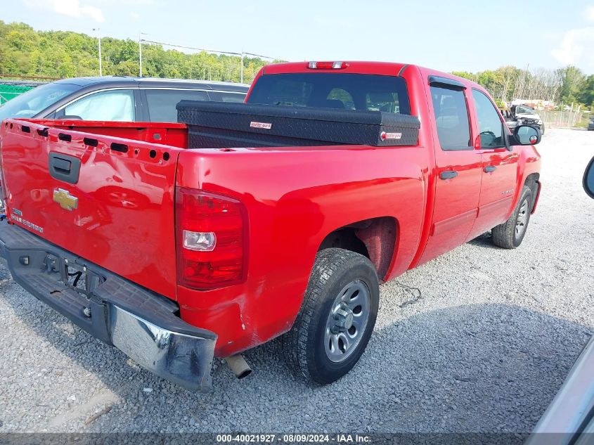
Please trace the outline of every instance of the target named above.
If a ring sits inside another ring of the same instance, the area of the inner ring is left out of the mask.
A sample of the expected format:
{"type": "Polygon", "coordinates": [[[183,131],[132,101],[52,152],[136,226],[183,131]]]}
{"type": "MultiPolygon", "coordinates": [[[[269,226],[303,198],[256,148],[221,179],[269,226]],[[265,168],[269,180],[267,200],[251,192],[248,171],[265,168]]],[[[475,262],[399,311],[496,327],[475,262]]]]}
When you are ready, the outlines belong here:
{"type": "MultiPolygon", "coordinates": [[[[103,75],[138,75],[138,41],[101,39],[103,75]]],[[[275,60],[277,61],[277,60],[275,60]]],[[[250,83],[269,63],[243,60],[243,79],[250,83]]],[[[184,53],[143,43],[143,76],[178,77],[239,82],[241,58],[202,51],[184,53]]],[[[99,72],[96,37],[70,31],[36,31],[25,23],[0,20],[0,77],[10,75],[55,78],[96,76],[99,72]]],[[[513,66],[481,72],[453,72],[484,86],[498,102],[512,98],[543,100],[594,108],[594,75],[567,66],[558,70],[529,70],[513,66]]]]}

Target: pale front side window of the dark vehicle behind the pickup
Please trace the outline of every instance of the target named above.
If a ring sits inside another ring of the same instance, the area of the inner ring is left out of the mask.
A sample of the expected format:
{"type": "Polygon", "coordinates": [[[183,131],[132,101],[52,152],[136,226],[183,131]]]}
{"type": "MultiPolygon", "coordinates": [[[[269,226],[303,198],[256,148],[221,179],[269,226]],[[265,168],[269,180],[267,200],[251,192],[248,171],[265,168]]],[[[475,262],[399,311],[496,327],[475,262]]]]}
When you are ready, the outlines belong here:
{"type": "Polygon", "coordinates": [[[134,91],[116,89],[90,94],[60,110],[57,117],[78,116],[82,120],[134,122],[134,91]]]}

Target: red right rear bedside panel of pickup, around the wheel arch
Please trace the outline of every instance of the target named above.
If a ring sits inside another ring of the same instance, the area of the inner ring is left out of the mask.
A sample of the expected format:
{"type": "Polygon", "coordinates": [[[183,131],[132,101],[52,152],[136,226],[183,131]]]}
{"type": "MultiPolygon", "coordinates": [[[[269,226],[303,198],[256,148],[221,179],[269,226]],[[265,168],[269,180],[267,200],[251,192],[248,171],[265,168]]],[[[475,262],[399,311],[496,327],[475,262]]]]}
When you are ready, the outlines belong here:
{"type": "Polygon", "coordinates": [[[183,151],[177,185],[241,200],[250,240],[247,281],[200,292],[178,286],[181,316],[219,334],[217,356],[287,331],[322,240],[365,219],[396,221],[397,254],[380,278],[406,271],[425,217],[428,153],[363,146],[183,151]]]}

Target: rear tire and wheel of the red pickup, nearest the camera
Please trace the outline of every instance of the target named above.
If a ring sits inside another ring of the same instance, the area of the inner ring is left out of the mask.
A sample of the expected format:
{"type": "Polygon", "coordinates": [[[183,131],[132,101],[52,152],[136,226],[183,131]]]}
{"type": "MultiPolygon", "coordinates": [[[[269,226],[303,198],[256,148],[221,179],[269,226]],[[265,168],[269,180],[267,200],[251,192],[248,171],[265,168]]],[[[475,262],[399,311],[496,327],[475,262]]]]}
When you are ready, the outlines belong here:
{"type": "Polygon", "coordinates": [[[350,250],[318,252],[301,311],[282,337],[285,361],[299,377],[338,380],[365,350],[380,302],[375,267],[350,250]]]}

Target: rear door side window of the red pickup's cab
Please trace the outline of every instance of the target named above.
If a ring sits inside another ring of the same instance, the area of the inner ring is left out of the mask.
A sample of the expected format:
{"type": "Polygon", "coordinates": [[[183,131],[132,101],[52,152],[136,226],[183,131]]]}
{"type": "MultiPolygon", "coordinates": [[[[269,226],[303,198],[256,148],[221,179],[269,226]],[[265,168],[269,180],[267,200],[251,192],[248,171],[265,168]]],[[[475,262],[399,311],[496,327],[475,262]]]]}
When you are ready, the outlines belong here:
{"type": "Polygon", "coordinates": [[[464,91],[431,86],[431,97],[441,150],[472,150],[464,91]]]}

